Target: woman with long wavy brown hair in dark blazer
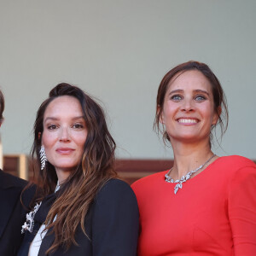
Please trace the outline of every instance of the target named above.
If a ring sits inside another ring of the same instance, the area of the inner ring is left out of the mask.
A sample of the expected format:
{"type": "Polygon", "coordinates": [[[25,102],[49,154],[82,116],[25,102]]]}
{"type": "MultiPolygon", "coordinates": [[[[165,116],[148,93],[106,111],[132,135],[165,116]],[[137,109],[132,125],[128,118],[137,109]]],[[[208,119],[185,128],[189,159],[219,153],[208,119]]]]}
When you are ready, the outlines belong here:
{"type": "Polygon", "coordinates": [[[137,199],[117,177],[114,149],[90,96],[70,84],[50,90],[34,124],[38,200],[19,256],[136,255],[137,199]]]}

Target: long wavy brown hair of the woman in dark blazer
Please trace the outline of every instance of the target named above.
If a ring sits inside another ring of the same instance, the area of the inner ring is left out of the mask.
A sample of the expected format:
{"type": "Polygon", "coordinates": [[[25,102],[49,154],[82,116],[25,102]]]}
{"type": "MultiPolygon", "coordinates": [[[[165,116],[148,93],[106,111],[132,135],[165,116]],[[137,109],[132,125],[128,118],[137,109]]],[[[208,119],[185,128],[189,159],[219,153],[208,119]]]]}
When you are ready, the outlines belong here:
{"type": "MultiPolygon", "coordinates": [[[[31,155],[32,159],[36,159],[32,165],[35,182],[38,185],[36,192],[38,196],[35,198],[41,201],[46,195],[54,193],[57,183],[55,167],[49,162],[46,162],[41,171],[39,150],[44,133],[44,112],[49,102],[60,96],[73,96],[79,100],[88,135],[79,166],[65,183],[61,184],[61,193],[46,217],[46,230],[51,229],[55,234],[55,241],[47,253],[54,252],[60,246],[68,250],[72,244],[77,244],[75,233],[79,225],[86,235],[84,218],[96,192],[110,178],[117,177],[113,167],[116,145],[108,131],[102,108],[92,97],[78,87],[71,84],[58,84],[50,90],[49,98],[41,104],[34,124],[34,142],[31,155]],[[55,218],[56,215],[57,218],[55,218]]],[[[90,237],[88,238],[90,239],[90,237]]]]}

